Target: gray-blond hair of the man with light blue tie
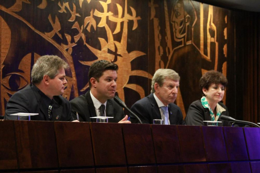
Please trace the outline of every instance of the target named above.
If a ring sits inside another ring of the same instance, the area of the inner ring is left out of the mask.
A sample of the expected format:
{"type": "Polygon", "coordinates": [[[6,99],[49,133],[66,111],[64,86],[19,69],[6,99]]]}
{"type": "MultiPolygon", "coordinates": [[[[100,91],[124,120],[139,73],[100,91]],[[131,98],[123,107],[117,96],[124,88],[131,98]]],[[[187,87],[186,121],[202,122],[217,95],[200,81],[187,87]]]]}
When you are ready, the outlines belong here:
{"type": "Polygon", "coordinates": [[[151,92],[154,93],[154,84],[158,83],[158,85],[161,87],[165,81],[166,78],[172,79],[172,80],[180,80],[180,76],[178,73],[176,73],[174,70],[171,69],[158,69],[154,73],[152,77],[152,90],[151,92]]]}

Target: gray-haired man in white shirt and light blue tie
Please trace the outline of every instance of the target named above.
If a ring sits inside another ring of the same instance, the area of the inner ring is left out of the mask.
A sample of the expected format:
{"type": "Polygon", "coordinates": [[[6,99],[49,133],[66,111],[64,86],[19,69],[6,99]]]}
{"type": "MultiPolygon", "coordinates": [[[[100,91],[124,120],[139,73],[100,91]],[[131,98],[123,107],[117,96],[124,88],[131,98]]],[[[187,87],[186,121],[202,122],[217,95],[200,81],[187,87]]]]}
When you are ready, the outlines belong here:
{"type": "MultiPolygon", "coordinates": [[[[174,104],[177,98],[180,76],[171,69],[158,69],[152,78],[152,91],[131,107],[143,123],[153,124],[154,119],[163,119],[163,124],[185,125],[180,107],[174,104]]],[[[138,120],[130,114],[131,122],[138,120]]]]}

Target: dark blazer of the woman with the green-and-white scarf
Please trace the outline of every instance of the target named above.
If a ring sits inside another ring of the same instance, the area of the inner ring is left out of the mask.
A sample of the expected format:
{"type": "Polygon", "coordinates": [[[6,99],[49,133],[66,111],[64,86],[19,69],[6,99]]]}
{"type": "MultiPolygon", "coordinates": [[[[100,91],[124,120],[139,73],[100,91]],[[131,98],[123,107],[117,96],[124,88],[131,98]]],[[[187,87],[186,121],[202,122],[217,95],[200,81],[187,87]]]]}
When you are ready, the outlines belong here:
{"type": "MultiPolygon", "coordinates": [[[[228,116],[227,107],[219,102],[221,107],[223,107],[226,111],[222,112],[221,115],[228,116]]],[[[188,109],[188,113],[185,118],[187,125],[207,125],[206,122],[203,121],[211,121],[211,116],[208,108],[204,108],[202,106],[201,100],[196,100],[190,104],[188,109]]],[[[218,119],[222,123],[218,123],[218,126],[230,126],[230,122],[218,119]]]]}

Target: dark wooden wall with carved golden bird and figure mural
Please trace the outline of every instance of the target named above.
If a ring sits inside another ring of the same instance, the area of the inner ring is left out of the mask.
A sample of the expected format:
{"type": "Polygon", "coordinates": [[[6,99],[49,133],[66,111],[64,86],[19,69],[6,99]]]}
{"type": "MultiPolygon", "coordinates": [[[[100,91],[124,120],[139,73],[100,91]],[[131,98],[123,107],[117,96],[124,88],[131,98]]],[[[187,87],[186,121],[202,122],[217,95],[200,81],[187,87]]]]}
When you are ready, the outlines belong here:
{"type": "Polygon", "coordinates": [[[117,94],[128,107],[150,93],[158,68],[172,68],[185,116],[212,69],[227,76],[230,116],[260,122],[259,16],[190,0],[1,1],[2,115],[11,95],[30,84],[33,63],[55,54],[70,65],[68,100],[86,93],[89,66],[99,59],[119,66],[117,94]]]}

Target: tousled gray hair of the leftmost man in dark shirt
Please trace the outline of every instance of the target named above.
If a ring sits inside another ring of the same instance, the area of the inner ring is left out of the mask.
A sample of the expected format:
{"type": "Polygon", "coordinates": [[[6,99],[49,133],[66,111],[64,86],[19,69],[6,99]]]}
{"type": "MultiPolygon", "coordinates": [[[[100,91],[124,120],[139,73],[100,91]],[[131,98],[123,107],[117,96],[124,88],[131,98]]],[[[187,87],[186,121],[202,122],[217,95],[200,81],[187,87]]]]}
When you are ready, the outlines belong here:
{"type": "Polygon", "coordinates": [[[33,65],[31,72],[32,83],[40,83],[44,75],[48,75],[51,79],[54,79],[62,68],[68,69],[69,65],[56,55],[44,55],[39,57],[33,65]]]}

